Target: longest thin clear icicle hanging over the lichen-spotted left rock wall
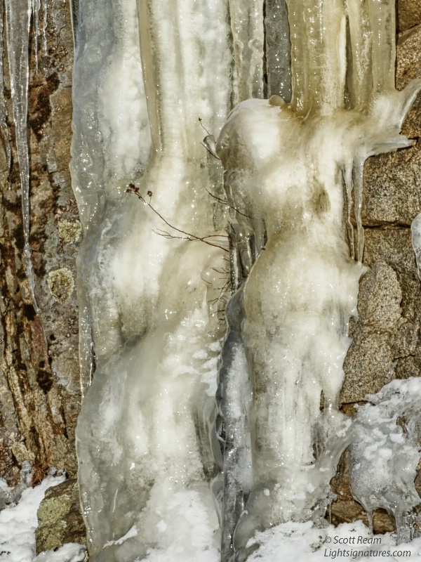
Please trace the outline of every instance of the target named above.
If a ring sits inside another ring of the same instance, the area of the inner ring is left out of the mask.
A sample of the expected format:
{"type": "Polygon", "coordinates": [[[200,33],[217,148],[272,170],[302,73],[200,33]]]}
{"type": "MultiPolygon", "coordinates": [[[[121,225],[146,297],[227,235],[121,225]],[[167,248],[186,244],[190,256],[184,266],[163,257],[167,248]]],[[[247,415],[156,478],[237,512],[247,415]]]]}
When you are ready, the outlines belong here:
{"type": "Polygon", "coordinates": [[[28,79],[29,79],[29,24],[30,0],[6,0],[6,32],[8,60],[11,74],[13,117],[15,119],[16,148],[20,168],[20,191],[22,197],[22,223],[27,281],[36,312],[35,282],[32,273],[30,228],[30,170],[27,131],[28,79]]]}

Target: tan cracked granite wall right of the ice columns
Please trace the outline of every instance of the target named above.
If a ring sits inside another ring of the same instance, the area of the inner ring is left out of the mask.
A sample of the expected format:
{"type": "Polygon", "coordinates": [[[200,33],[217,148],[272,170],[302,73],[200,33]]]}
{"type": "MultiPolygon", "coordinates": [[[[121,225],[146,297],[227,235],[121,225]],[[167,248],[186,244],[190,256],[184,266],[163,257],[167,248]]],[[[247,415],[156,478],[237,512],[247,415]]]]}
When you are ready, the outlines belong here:
{"type": "MultiPolygon", "coordinates": [[[[421,5],[399,1],[396,86],[421,78],[421,5]]],[[[392,379],[421,374],[421,285],[411,245],[410,223],[421,212],[421,97],[415,101],[403,133],[414,145],[372,157],[364,168],[361,218],[365,232],[363,263],[369,270],[361,279],[359,318],[352,323],[352,344],[345,360],[342,411],[353,414],[392,379]]],[[[396,421],[399,423],[399,420],[396,421]]],[[[349,490],[347,452],[342,455],[332,488],[338,499],[327,518],[333,523],[368,518],[349,490]]],[[[421,469],[421,462],[419,465],[421,469]]],[[[421,497],[421,471],[415,479],[421,497]]],[[[420,499],[421,503],[421,499],[420,499]]],[[[374,529],[394,529],[384,510],[374,514],[374,529]]]]}

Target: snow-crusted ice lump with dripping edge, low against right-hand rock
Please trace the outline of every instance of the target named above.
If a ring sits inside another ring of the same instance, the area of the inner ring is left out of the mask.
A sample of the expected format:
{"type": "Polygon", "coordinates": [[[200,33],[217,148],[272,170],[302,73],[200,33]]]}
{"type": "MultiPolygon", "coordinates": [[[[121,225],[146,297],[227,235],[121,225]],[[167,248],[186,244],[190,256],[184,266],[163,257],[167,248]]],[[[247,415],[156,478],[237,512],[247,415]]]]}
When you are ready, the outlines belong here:
{"type": "Polygon", "coordinates": [[[417,535],[421,504],[415,490],[421,446],[421,378],[395,380],[359,407],[351,429],[351,490],[370,518],[386,509],[399,542],[417,535]]]}

